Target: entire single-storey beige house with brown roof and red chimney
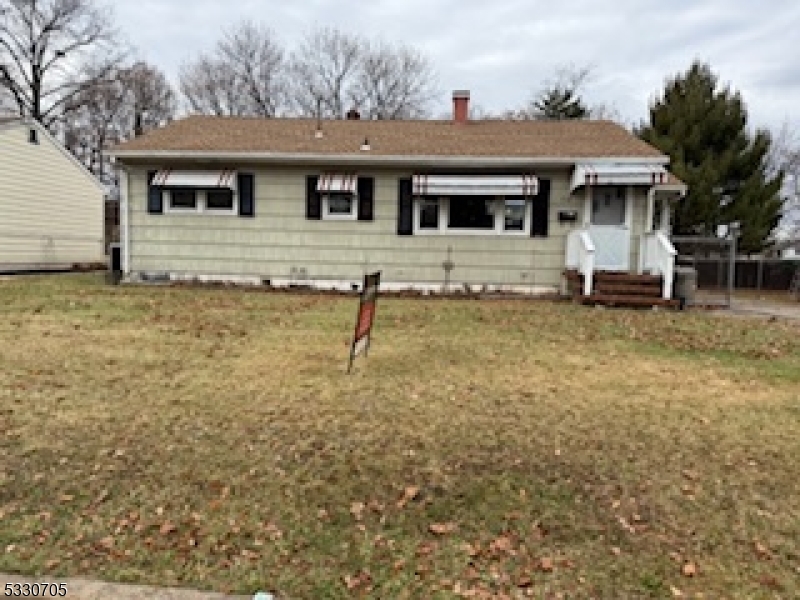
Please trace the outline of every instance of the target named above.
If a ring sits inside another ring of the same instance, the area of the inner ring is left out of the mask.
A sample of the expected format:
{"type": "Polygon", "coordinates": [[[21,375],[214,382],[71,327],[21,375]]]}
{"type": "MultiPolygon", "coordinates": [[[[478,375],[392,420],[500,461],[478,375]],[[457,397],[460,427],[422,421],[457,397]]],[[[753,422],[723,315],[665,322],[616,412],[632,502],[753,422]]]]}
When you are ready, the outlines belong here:
{"type": "MultiPolygon", "coordinates": [[[[565,267],[665,272],[685,186],[601,121],[194,116],[117,147],[129,280],[560,289],[565,267]]],[[[355,116],[355,115],[354,115],[355,116]]],[[[666,273],[666,271],[669,271],[666,273]]]]}

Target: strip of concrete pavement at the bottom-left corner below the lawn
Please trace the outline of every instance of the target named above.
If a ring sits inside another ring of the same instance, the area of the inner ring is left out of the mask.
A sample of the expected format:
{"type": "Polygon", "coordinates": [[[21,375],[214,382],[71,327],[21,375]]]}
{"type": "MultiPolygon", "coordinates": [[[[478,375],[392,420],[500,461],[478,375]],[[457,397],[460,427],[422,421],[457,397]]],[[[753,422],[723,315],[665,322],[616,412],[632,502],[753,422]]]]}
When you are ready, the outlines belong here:
{"type": "MultiPolygon", "coordinates": [[[[86,581],[85,579],[48,579],[39,577],[28,579],[16,575],[5,575],[0,573],[0,597],[6,597],[7,590],[5,584],[25,584],[25,583],[63,583],[67,587],[67,600],[251,600],[252,596],[226,596],[224,594],[211,594],[194,590],[179,590],[154,588],[141,585],[120,585],[116,583],[102,583],[99,581],[86,581]]],[[[15,594],[17,589],[11,590],[11,597],[38,597],[38,598],[60,598],[51,596],[49,593],[30,596],[25,594],[25,589],[21,594],[15,594]]],[[[54,590],[55,591],[55,590],[54,590]]]]}

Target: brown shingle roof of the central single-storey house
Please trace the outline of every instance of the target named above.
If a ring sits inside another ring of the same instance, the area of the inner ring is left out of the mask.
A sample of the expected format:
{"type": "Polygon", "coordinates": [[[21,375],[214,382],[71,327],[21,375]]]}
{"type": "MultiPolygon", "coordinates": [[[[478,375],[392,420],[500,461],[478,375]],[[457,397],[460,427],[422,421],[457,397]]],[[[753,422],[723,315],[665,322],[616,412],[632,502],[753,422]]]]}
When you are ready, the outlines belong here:
{"type": "Polygon", "coordinates": [[[663,158],[609,121],[323,121],[192,116],[117,146],[145,154],[254,153],[509,158],[663,158]]]}

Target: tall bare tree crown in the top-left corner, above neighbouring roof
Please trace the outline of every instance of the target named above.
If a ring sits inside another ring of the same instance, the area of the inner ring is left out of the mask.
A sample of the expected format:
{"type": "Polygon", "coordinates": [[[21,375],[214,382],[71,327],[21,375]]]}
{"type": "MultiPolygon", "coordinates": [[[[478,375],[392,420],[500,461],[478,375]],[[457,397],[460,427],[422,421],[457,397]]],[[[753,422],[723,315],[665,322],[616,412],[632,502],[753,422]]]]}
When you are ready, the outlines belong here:
{"type": "Polygon", "coordinates": [[[0,0],[0,85],[21,116],[52,127],[119,64],[115,38],[93,0],[0,0]]]}

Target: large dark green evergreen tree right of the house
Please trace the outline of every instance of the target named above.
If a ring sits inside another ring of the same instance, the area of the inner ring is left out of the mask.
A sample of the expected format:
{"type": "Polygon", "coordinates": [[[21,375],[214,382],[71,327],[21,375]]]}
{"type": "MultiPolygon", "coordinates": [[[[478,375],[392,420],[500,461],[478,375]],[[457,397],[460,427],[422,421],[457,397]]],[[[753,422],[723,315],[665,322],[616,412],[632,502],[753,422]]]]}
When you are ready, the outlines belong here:
{"type": "Polygon", "coordinates": [[[670,156],[672,172],[689,186],[673,233],[716,235],[720,224],[739,221],[742,251],[762,249],[780,219],[783,174],[768,174],[771,137],[748,132],[738,92],[720,88],[711,68],[695,62],[667,81],[638,133],[670,156]]]}

